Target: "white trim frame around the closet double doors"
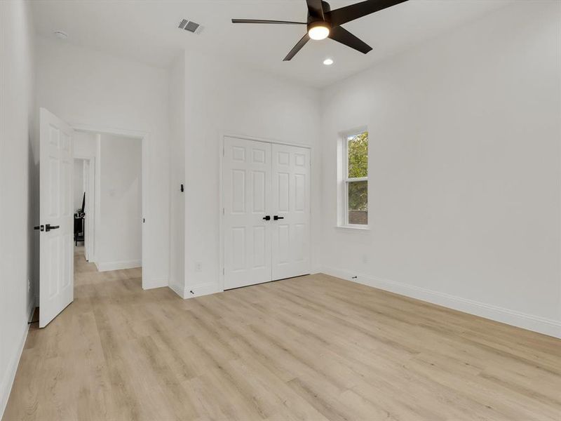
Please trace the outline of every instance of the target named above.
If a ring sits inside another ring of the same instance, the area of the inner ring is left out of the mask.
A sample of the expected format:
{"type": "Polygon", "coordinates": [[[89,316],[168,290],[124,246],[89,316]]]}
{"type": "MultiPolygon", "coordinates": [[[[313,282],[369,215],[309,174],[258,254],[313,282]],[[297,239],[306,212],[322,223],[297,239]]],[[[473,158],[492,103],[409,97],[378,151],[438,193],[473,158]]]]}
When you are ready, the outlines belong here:
{"type": "MultiPolygon", "coordinates": [[[[222,180],[223,177],[223,165],[224,165],[224,139],[225,138],[236,138],[236,139],[245,139],[245,140],[254,140],[255,142],[264,142],[276,144],[276,145],[287,145],[287,146],[295,146],[295,147],[303,147],[306,149],[310,149],[310,180],[311,180],[311,173],[312,173],[312,151],[313,148],[310,145],[302,145],[302,143],[290,143],[290,142],[283,142],[282,140],[272,140],[266,138],[255,138],[253,136],[245,136],[245,135],[233,135],[231,133],[220,133],[220,148],[219,148],[219,194],[218,194],[218,229],[219,229],[219,282],[218,282],[218,291],[224,292],[224,182],[222,180]]],[[[311,191],[310,191],[310,199],[311,199],[311,191]]],[[[311,206],[310,206],[310,213],[311,213],[311,206]]],[[[310,236],[311,236],[311,227],[310,227],[310,236]]],[[[311,238],[310,238],[311,240],[311,238]]],[[[310,248],[311,248],[311,241],[310,241],[310,248]]],[[[310,250],[311,252],[311,250],[310,250]]],[[[310,253],[311,256],[311,253],[310,253]]]]}

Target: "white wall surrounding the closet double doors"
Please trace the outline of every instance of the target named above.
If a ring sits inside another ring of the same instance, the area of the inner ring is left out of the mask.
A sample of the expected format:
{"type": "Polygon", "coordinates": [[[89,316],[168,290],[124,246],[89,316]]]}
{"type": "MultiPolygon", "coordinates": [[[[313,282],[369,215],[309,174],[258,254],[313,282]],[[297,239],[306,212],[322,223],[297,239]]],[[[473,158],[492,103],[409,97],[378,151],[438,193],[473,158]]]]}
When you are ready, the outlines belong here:
{"type": "MultiPolygon", "coordinates": [[[[219,58],[186,53],[185,280],[195,295],[219,289],[220,133],[311,145],[320,184],[319,93],[219,58]],[[196,272],[196,262],[202,271],[196,272]]],[[[174,186],[175,187],[175,186],[174,186]]],[[[312,190],[312,268],[319,268],[320,191],[312,190]]]]}

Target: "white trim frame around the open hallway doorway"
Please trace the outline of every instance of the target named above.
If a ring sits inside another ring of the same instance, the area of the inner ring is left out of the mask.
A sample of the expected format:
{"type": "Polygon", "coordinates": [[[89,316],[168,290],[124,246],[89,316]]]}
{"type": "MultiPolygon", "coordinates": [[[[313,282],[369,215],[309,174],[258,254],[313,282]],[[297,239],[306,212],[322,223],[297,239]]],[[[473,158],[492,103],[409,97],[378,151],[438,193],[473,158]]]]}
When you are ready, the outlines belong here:
{"type": "MultiPolygon", "coordinates": [[[[151,264],[151,256],[147,253],[146,244],[148,243],[149,239],[147,236],[147,228],[146,224],[149,222],[149,206],[150,203],[148,200],[148,180],[149,178],[149,166],[148,166],[148,151],[149,151],[149,142],[150,142],[150,133],[144,131],[135,131],[135,130],[127,130],[122,128],[107,128],[103,126],[90,126],[88,124],[79,124],[79,123],[71,123],[70,126],[74,128],[76,131],[81,132],[88,132],[88,133],[97,133],[97,134],[104,134],[104,135],[117,135],[117,136],[126,136],[127,138],[134,138],[138,139],[142,142],[142,289],[147,289],[147,279],[145,279],[144,274],[150,273],[149,271],[145,270],[146,267],[149,267],[151,264]]],[[[97,163],[99,165],[100,163],[97,163]]],[[[95,176],[98,178],[98,176],[95,176]]],[[[99,198],[96,198],[96,204],[99,204],[99,198]]],[[[98,207],[99,208],[99,207],[98,207]]],[[[98,218],[97,215],[96,218],[98,218]]],[[[94,241],[97,241],[95,239],[94,241]]],[[[96,253],[95,253],[96,254],[96,253]]],[[[97,258],[97,255],[95,256],[97,258]]]]}

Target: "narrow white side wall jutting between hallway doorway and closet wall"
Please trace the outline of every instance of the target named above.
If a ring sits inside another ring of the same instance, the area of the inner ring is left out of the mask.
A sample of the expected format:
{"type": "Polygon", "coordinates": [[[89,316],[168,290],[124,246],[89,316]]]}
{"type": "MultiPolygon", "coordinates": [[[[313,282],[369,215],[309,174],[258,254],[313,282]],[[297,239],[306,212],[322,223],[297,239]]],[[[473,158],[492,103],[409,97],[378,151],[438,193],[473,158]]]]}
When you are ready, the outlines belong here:
{"type": "Polygon", "coordinates": [[[170,288],[183,295],[185,285],[185,54],[170,68],[170,288]]]}

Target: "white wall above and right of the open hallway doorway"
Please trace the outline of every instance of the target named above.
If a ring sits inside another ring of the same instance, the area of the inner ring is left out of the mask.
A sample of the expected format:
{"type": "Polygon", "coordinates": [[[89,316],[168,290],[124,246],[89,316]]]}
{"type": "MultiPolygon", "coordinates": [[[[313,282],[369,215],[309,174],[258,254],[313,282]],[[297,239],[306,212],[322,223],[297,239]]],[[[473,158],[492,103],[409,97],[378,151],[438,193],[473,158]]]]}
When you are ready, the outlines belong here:
{"type": "Polygon", "coordinates": [[[168,72],[106,53],[37,40],[39,106],[71,124],[149,133],[145,288],[169,277],[168,72]]]}

